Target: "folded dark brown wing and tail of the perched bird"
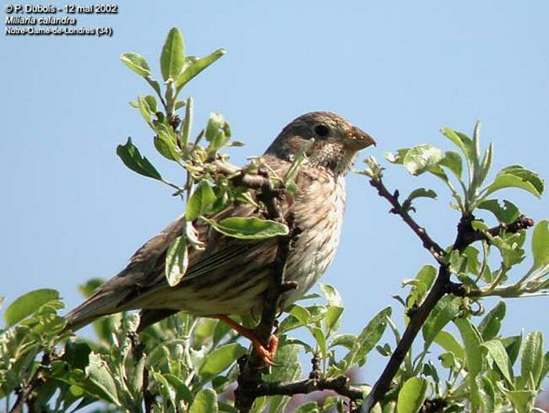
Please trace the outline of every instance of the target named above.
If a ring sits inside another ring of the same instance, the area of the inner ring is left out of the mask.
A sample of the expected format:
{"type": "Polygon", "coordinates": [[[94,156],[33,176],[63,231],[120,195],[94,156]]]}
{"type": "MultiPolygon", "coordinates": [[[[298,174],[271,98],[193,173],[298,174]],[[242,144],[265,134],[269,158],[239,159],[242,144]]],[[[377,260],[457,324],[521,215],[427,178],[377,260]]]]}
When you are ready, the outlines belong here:
{"type": "MultiPolygon", "coordinates": [[[[286,210],[287,208],[283,208],[286,210]]],[[[257,216],[253,205],[231,205],[213,219],[220,220],[227,216],[257,216]]],[[[242,265],[244,256],[254,256],[256,263],[272,261],[276,252],[276,240],[246,241],[225,236],[213,230],[204,221],[196,221],[198,239],[205,243],[204,250],[191,249],[189,267],[180,285],[174,288],[185,288],[190,280],[207,278],[209,274],[224,272],[231,274],[228,268],[242,265]],[[255,253],[258,252],[258,253],[255,253]],[[261,252],[261,254],[259,254],[261,252]]],[[[69,326],[73,331],[89,324],[97,317],[137,309],[143,306],[144,300],[156,293],[170,289],[165,277],[165,254],[167,248],[183,231],[183,216],[170,223],[163,231],[147,241],[130,258],[130,262],[117,276],[108,280],[93,295],[67,315],[69,326]]]]}

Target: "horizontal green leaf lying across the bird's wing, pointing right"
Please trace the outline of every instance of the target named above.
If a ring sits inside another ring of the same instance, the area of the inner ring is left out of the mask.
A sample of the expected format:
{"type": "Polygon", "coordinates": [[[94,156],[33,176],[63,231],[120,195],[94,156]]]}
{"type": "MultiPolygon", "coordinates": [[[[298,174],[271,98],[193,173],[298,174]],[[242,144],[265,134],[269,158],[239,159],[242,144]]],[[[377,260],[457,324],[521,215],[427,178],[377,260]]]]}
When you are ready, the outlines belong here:
{"type": "Polygon", "coordinates": [[[231,216],[217,222],[213,219],[207,219],[201,216],[201,219],[209,223],[214,230],[222,234],[233,236],[240,239],[265,239],[273,236],[288,235],[288,226],[270,219],[259,219],[255,216],[242,218],[240,216],[231,216]]]}

